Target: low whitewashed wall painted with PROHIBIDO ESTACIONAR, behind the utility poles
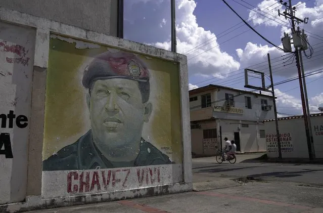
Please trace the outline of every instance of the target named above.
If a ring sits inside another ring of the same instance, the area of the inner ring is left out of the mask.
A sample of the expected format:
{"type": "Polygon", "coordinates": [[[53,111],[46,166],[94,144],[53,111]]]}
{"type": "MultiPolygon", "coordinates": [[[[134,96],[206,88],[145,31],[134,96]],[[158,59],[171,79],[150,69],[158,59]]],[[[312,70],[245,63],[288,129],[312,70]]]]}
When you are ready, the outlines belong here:
{"type": "MultiPolygon", "coordinates": [[[[278,157],[278,147],[274,135],[276,127],[274,121],[264,122],[267,155],[278,157]]],[[[305,134],[304,118],[281,119],[278,122],[282,144],[282,156],[285,158],[308,158],[307,140],[305,134]]],[[[323,114],[311,116],[314,150],[316,158],[323,158],[323,114]]]]}

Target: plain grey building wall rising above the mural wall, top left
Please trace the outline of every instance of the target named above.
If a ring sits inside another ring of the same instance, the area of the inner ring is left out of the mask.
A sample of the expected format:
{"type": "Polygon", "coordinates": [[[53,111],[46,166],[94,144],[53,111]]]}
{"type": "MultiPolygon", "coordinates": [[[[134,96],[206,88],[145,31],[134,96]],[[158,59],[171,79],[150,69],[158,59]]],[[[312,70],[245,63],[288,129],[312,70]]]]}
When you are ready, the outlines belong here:
{"type": "Polygon", "coordinates": [[[117,36],[117,0],[2,0],[0,6],[117,36]]]}

